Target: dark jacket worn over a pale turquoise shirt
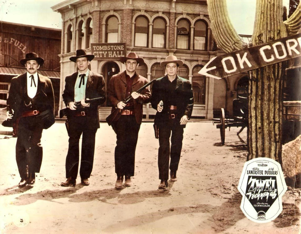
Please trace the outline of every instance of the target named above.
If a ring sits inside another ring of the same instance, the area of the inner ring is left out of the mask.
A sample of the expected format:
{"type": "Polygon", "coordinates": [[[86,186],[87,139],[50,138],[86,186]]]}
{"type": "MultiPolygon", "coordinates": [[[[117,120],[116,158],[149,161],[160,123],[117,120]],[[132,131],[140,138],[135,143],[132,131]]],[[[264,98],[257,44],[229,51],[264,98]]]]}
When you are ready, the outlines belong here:
{"type": "MultiPolygon", "coordinates": [[[[74,85],[76,79],[78,77],[78,72],[74,72],[72,75],[67,76],[65,79],[65,89],[63,91],[62,97],[63,101],[67,107],[69,102],[74,102],[74,85]]],[[[90,128],[99,128],[99,114],[98,114],[98,106],[105,102],[105,79],[102,75],[89,71],[85,98],[100,98],[104,97],[104,99],[90,103],[88,108],[81,108],[78,106],[76,110],[68,110],[67,118],[80,120],[81,117],[74,117],[74,113],[76,111],[86,111],[87,118],[89,118],[89,126],[90,128]]]]}

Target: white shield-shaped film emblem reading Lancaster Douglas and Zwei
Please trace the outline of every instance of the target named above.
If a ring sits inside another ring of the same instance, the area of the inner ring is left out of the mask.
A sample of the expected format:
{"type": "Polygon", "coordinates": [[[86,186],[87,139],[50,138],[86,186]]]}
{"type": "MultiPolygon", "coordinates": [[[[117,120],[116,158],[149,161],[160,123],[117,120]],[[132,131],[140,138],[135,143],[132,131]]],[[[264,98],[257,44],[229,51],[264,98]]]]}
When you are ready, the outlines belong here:
{"type": "Polygon", "coordinates": [[[282,211],[282,195],[287,190],[281,166],[270,158],[245,162],[238,190],[242,194],[240,209],[255,222],[274,220],[282,211]]]}

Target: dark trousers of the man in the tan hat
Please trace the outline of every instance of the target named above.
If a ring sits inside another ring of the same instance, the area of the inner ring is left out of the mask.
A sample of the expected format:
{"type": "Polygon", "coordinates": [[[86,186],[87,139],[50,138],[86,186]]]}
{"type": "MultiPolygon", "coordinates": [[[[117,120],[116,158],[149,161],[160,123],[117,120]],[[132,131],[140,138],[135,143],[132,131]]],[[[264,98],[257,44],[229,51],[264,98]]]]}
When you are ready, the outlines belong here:
{"type": "Polygon", "coordinates": [[[178,170],[182,140],[183,140],[184,125],[180,125],[177,120],[170,120],[165,125],[159,126],[159,153],[158,167],[159,179],[168,180],[168,165],[170,155],[170,171],[178,170]],[[169,137],[171,133],[171,146],[169,145],[169,137]],[[170,147],[169,147],[170,146],[170,147]]]}

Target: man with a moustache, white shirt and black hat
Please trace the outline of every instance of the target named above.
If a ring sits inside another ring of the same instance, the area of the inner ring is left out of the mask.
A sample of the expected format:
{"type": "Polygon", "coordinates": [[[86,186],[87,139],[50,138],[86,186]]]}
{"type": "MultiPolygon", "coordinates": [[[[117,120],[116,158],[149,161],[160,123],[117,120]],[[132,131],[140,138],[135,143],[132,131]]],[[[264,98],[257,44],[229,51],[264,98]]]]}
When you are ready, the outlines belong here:
{"type": "Polygon", "coordinates": [[[34,184],[35,173],[40,172],[43,155],[40,142],[45,128],[41,116],[49,111],[54,123],[54,94],[50,79],[37,72],[44,64],[43,58],[36,53],[27,53],[20,63],[27,72],[12,79],[7,105],[14,112],[18,132],[16,161],[21,177],[18,186],[21,188],[34,184]]]}

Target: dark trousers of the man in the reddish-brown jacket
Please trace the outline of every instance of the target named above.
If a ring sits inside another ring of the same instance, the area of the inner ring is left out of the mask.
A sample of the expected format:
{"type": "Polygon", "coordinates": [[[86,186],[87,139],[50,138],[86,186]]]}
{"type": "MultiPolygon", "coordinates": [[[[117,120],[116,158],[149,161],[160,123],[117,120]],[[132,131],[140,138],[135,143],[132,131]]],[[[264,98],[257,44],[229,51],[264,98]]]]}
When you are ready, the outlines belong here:
{"type": "Polygon", "coordinates": [[[134,176],[135,151],[140,124],[135,115],[121,115],[114,123],[116,132],[115,173],[117,176],[134,176]]]}

